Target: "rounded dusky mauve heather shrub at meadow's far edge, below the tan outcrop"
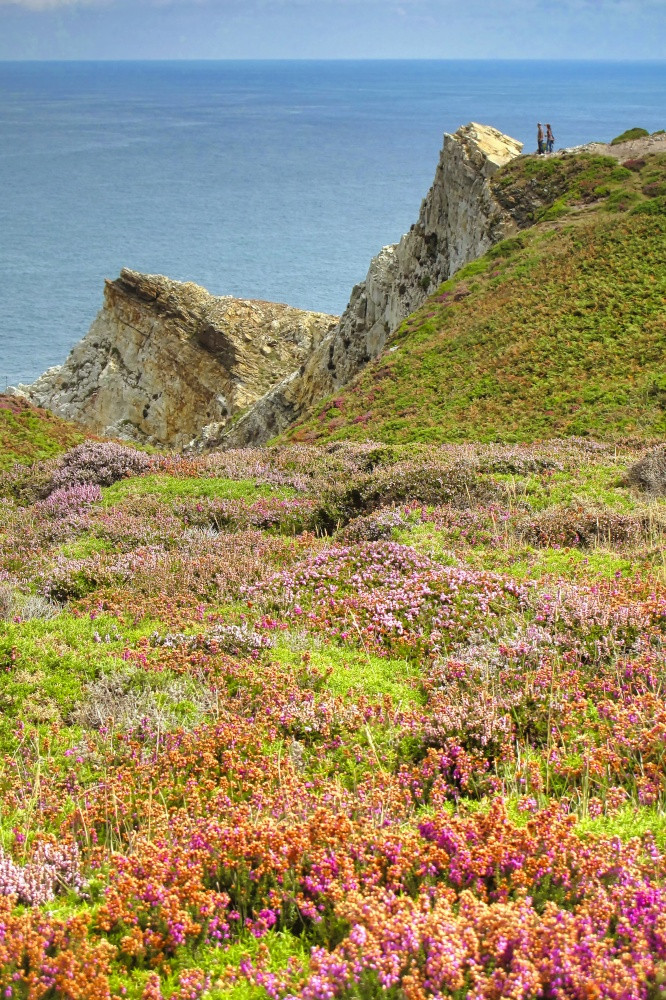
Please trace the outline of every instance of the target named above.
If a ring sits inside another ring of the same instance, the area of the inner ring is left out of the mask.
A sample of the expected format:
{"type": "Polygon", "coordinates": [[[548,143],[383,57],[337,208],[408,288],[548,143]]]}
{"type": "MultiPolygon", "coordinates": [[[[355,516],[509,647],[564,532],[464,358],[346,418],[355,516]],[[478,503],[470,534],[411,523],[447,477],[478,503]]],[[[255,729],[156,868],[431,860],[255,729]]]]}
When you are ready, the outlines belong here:
{"type": "Polygon", "coordinates": [[[147,472],[152,464],[149,455],[126,445],[114,441],[84,441],[59,460],[49,492],[77,483],[111,486],[119,479],[147,472]]]}

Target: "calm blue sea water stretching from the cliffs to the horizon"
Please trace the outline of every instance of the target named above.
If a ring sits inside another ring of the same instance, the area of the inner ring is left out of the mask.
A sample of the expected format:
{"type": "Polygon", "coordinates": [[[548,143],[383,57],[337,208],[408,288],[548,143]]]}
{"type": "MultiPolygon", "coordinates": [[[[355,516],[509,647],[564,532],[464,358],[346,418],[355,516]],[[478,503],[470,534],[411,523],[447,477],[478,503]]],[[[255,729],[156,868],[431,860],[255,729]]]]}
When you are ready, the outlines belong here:
{"type": "Polygon", "coordinates": [[[532,150],[666,126],[664,63],[0,63],[0,390],[128,266],[340,312],[416,219],[442,133],[532,150]]]}

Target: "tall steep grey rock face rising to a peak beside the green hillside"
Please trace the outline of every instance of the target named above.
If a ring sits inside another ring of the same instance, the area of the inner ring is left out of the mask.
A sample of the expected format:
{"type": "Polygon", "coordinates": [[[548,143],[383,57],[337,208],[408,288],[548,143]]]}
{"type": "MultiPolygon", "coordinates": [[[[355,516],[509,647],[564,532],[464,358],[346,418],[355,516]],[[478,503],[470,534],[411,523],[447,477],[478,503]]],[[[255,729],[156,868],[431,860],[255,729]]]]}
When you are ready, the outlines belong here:
{"type": "Polygon", "coordinates": [[[339,324],[300,371],[271,389],[233,426],[209,436],[206,444],[260,444],[283,431],[376,357],[389,334],[437,285],[513,233],[516,223],[495,199],[490,179],[521,150],[522,143],[475,122],[455,135],[445,134],[418,222],[373,259],[339,324]]]}

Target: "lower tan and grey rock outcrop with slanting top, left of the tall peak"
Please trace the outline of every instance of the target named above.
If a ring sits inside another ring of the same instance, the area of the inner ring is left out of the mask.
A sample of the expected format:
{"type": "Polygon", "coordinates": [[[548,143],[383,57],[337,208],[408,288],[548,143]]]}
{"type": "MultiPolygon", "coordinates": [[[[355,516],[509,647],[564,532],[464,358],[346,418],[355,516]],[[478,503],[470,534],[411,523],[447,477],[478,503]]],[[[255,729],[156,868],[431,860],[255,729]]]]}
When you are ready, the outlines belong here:
{"type": "Polygon", "coordinates": [[[98,434],[182,448],[298,368],[337,317],[123,270],[66,362],[13,392],[98,434]]]}

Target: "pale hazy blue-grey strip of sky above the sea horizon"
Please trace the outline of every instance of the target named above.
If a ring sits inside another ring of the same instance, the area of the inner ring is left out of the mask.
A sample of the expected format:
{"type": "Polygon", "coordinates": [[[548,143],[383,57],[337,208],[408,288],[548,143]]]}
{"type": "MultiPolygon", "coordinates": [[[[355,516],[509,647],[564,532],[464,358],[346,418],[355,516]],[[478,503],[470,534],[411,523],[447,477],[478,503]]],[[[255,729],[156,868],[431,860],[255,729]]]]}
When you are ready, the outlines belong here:
{"type": "Polygon", "coordinates": [[[0,59],[666,58],[666,0],[0,0],[0,59]]]}

